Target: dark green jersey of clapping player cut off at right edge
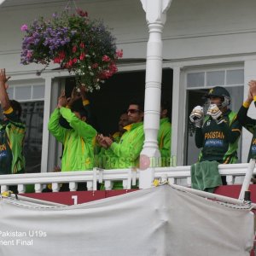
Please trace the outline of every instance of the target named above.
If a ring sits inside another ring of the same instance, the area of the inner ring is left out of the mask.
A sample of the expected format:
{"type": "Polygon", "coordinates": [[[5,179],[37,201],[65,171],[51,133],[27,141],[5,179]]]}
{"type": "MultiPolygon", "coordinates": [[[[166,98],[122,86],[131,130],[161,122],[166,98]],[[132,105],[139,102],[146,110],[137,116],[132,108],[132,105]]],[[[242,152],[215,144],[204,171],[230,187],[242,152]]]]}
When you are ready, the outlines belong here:
{"type": "MultiPolygon", "coordinates": [[[[256,107],[256,102],[254,102],[254,105],[256,107]]],[[[247,131],[250,131],[253,134],[248,159],[249,162],[250,159],[256,159],[256,119],[251,119],[247,116],[249,107],[241,106],[239,109],[239,112],[237,113],[237,119],[241,123],[242,126],[244,126],[247,131]]]]}

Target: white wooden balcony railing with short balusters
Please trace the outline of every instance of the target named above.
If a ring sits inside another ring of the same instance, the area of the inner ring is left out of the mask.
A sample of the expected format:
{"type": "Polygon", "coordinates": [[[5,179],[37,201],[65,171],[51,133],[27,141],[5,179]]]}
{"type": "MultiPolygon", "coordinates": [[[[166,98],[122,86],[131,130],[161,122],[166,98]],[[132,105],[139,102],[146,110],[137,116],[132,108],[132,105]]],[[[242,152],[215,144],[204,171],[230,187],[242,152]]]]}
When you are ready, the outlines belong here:
{"type": "MultiPolygon", "coordinates": [[[[228,185],[242,183],[248,164],[219,165],[220,175],[226,176],[228,185]]],[[[131,189],[139,181],[139,169],[102,170],[79,172],[47,172],[16,175],[0,175],[1,193],[9,190],[10,185],[18,185],[19,193],[25,193],[26,184],[34,184],[35,192],[41,193],[46,184],[52,185],[53,192],[58,192],[61,183],[69,183],[70,191],[76,191],[78,183],[86,183],[88,190],[96,190],[97,183],[104,182],[107,190],[112,189],[113,181],[122,181],[124,189],[131,189]]],[[[253,170],[256,173],[256,168],[253,170]]],[[[154,178],[167,180],[171,184],[191,186],[190,166],[155,168],[154,178]]]]}

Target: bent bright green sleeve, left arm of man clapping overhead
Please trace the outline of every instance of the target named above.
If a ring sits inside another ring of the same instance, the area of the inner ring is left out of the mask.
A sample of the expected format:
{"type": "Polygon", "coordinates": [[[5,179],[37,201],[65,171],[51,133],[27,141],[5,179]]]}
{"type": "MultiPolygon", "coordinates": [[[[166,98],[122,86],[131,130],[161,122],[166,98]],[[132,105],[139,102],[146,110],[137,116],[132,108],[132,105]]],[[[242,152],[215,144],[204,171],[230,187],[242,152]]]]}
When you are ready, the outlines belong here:
{"type": "Polygon", "coordinates": [[[60,109],[55,108],[55,111],[50,115],[48,130],[60,143],[64,143],[67,129],[61,127],[59,119],[61,117],[60,109]]]}

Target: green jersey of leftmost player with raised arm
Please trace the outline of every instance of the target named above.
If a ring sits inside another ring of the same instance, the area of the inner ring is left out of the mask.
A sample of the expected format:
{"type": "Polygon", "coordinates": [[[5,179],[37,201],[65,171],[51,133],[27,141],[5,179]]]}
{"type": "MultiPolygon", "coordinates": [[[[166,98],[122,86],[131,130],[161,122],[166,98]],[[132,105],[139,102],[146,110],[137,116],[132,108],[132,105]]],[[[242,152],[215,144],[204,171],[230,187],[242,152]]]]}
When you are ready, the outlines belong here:
{"type": "Polygon", "coordinates": [[[24,173],[23,144],[26,126],[13,108],[4,112],[6,121],[0,124],[0,174],[24,173]]]}

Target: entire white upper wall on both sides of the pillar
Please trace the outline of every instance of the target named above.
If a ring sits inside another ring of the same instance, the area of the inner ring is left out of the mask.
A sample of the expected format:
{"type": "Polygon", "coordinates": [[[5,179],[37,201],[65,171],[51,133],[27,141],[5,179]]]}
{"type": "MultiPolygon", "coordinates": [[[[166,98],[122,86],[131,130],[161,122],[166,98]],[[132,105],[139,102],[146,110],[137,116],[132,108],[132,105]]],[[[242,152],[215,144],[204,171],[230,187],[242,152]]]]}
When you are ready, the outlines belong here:
{"type": "MultiPolygon", "coordinates": [[[[7,1],[8,2],[8,1],[7,1]]],[[[72,2],[72,1],[71,1],[72,2]]],[[[124,58],[145,58],[148,27],[139,0],[76,1],[92,18],[113,28],[124,58]]],[[[0,67],[31,71],[20,65],[20,26],[39,16],[50,17],[67,1],[0,7],[0,67]]],[[[173,0],[163,33],[164,58],[188,59],[256,52],[256,1],[173,0]]]]}

